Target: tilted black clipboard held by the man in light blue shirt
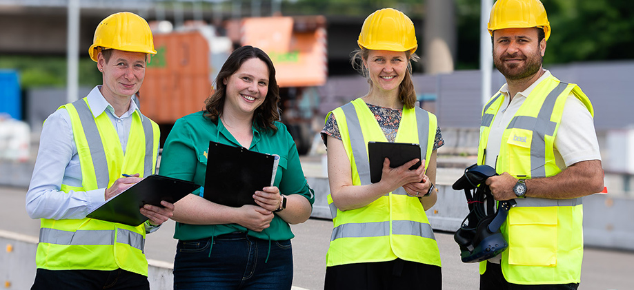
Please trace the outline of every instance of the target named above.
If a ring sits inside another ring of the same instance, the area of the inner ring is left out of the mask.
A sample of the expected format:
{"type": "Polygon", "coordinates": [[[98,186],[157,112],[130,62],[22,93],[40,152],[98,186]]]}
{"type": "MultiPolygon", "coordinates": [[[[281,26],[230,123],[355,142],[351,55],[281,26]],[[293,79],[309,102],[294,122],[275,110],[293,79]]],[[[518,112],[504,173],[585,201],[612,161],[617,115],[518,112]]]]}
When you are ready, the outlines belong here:
{"type": "Polygon", "coordinates": [[[143,205],[163,207],[161,200],[176,203],[198,187],[200,185],[186,180],[150,175],[121,194],[106,200],[106,203],[91,211],[86,217],[136,227],[148,220],[139,211],[143,205]]]}

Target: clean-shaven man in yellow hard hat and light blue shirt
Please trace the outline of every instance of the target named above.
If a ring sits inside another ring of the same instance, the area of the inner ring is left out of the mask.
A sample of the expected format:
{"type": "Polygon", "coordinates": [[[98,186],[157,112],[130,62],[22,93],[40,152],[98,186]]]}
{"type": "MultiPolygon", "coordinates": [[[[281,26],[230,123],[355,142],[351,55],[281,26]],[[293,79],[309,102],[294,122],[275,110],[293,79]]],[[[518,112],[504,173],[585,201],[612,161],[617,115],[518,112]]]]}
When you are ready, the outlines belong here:
{"type": "Polygon", "coordinates": [[[26,195],[29,216],[41,220],[32,289],[150,289],[146,234],[174,205],[145,205],[148,221],[137,227],[86,215],[155,172],[158,125],[131,101],[157,53],[152,32],[137,14],[115,13],[88,52],[103,84],[46,119],[26,195]]]}

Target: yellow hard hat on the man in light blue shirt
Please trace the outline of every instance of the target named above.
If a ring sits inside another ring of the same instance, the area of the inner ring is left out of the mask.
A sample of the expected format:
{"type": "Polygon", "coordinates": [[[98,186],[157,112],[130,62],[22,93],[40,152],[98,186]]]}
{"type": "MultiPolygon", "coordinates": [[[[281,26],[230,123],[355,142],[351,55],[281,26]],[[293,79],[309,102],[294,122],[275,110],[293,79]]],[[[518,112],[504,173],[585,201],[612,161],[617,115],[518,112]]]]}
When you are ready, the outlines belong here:
{"type": "Polygon", "coordinates": [[[146,19],[132,12],[112,14],[97,25],[95,37],[88,49],[90,59],[97,61],[101,48],[157,54],[150,25],[146,19]]]}

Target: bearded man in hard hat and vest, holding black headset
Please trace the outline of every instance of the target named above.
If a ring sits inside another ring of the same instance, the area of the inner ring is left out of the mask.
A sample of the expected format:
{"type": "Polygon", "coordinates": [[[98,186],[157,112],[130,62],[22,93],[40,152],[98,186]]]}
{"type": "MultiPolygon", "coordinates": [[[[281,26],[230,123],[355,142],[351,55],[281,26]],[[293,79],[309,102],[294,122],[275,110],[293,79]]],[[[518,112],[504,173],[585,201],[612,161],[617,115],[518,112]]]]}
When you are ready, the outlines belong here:
{"type": "Polygon", "coordinates": [[[514,199],[508,249],[480,263],[480,289],[577,289],[582,197],[602,191],[593,107],[579,86],[542,68],[551,25],[539,0],[498,0],[488,31],[506,78],[482,110],[478,163],[496,200],[514,199]]]}

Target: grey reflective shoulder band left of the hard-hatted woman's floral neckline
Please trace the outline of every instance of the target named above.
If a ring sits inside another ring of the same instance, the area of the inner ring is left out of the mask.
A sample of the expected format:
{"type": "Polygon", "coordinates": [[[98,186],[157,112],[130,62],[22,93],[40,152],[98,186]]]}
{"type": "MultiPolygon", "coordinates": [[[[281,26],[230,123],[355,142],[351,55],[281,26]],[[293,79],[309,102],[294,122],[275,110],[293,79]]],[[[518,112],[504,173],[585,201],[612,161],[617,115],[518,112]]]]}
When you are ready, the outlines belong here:
{"type": "Polygon", "coordinates": [[[370,163],[368,162],[368,147],[366,147],[366,141],[363,136],[363,132],[361,132],[361,123],[359,123],[357,110],[355,110],[355,105],[353,105],[353,103],[347,103],[346,105],[341,106],[341,110],[343,110],[344,114],[346,114],[350,147],[353,149],[353,156],[355,157],[355,165],[357,165],[359,180],[361,180],[361,185],[369,185],[370,163]]]}

